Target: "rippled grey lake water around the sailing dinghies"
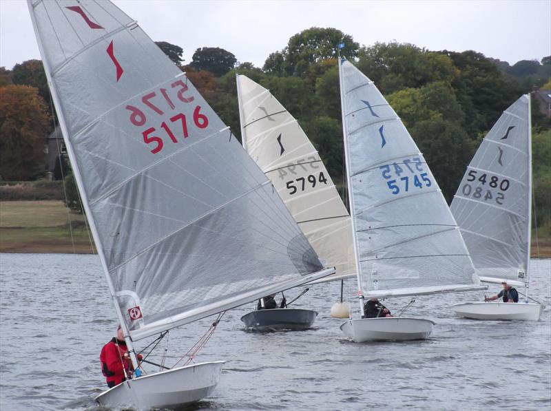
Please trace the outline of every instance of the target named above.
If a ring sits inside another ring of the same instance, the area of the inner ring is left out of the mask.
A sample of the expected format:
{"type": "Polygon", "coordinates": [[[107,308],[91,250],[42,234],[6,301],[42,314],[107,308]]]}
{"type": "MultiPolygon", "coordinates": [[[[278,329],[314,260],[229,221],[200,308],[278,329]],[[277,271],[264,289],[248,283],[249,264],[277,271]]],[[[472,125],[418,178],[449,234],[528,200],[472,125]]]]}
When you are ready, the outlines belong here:
{"type": "MultiPolygon", "coordinates": [[[[117,324],[98,257],[1,254],[0,268],[0,410],[97,410],[92,398],[105,389],[98,356],[117,324]]],[[[329,316],[338,282],[312,286],[293,304],[318,310],[312,330],[247,333],[240,317],[252,304],[236,308],[198,357],[227,363],[214,395],[194,409],[550,410],[551,260],[532,260],[531,278],[532,297],[546,305],[541,321],[468,320],[448,309],[481,293],[418,297],[408,315],[437,323],[425,341],[346,341],[342,321],[329,316]]],[[[345,295],[354,284],[345,282],[345,295]]],[[[385,304],[396,313],[408,301],[385,304]]],[[[160,344],[167,364],[210,323],[171,330],[160,344]]]]}

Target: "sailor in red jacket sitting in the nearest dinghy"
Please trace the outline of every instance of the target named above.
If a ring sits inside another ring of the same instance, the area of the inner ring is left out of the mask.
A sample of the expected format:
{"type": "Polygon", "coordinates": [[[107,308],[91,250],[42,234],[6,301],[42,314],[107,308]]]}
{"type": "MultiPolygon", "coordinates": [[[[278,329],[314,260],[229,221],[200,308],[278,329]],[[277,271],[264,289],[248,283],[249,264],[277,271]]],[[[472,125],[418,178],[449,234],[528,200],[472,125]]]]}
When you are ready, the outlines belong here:
{"type": "Polygon", "coordinates": [[[107,386],[112,388],[118,386],[132,374],[132,362],[128,355],[128,348],[123,336],[121,326],[116,330],[116,337],[113,337],[103,348],[99,355],[101,371],[107,379],[107,386]]]}

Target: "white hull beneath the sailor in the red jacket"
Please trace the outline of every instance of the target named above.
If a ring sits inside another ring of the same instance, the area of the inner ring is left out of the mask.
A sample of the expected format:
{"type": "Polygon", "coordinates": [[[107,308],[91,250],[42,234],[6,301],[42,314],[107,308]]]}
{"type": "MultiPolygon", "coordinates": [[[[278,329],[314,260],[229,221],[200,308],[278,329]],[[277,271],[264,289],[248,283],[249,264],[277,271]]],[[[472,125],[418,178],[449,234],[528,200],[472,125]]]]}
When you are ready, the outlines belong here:
{"type": "Polygon", "coordinates": [[[139,410],[194,403],[212,394],[223,363],[198,363],[124,381],[98,395],[96,401],[106,407],[131,406],[139,410]]]}

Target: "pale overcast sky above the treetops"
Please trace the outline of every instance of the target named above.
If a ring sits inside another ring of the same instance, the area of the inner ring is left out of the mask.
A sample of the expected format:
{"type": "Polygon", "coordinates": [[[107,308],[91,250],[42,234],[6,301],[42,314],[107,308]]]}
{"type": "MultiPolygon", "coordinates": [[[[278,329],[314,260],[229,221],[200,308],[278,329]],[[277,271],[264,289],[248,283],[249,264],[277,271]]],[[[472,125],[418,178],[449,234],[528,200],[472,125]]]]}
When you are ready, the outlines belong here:
{"type": "MultiPolygon", "coordinates": [[[[75,0],[76,1],[76,0],[75,0]]],[[[154,41],[220,47],[262,67],[289,37],[334,27],[355,41],[399,41],[429,50],[476,50],[514,64],[551,54],[551,0],[523,1],[151,1],[114,3],[154,41]]],[[[26,2],[0,0],[0,66],[40,59],[26,2]]]]}

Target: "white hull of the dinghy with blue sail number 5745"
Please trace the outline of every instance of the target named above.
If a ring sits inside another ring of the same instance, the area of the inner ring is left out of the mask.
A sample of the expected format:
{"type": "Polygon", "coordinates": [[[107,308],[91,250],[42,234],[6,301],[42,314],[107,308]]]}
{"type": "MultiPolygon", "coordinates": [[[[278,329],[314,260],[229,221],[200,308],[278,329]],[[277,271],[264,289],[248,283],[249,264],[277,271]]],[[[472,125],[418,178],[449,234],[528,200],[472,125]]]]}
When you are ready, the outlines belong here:
{"type": "Polygon", "coordinates": [[[380,317],[351,319],[340,329],[346,337],[361,343],[364,341],[409,341],[426,339],[433,331],[430,319],[410,317],[380,317]]]}

